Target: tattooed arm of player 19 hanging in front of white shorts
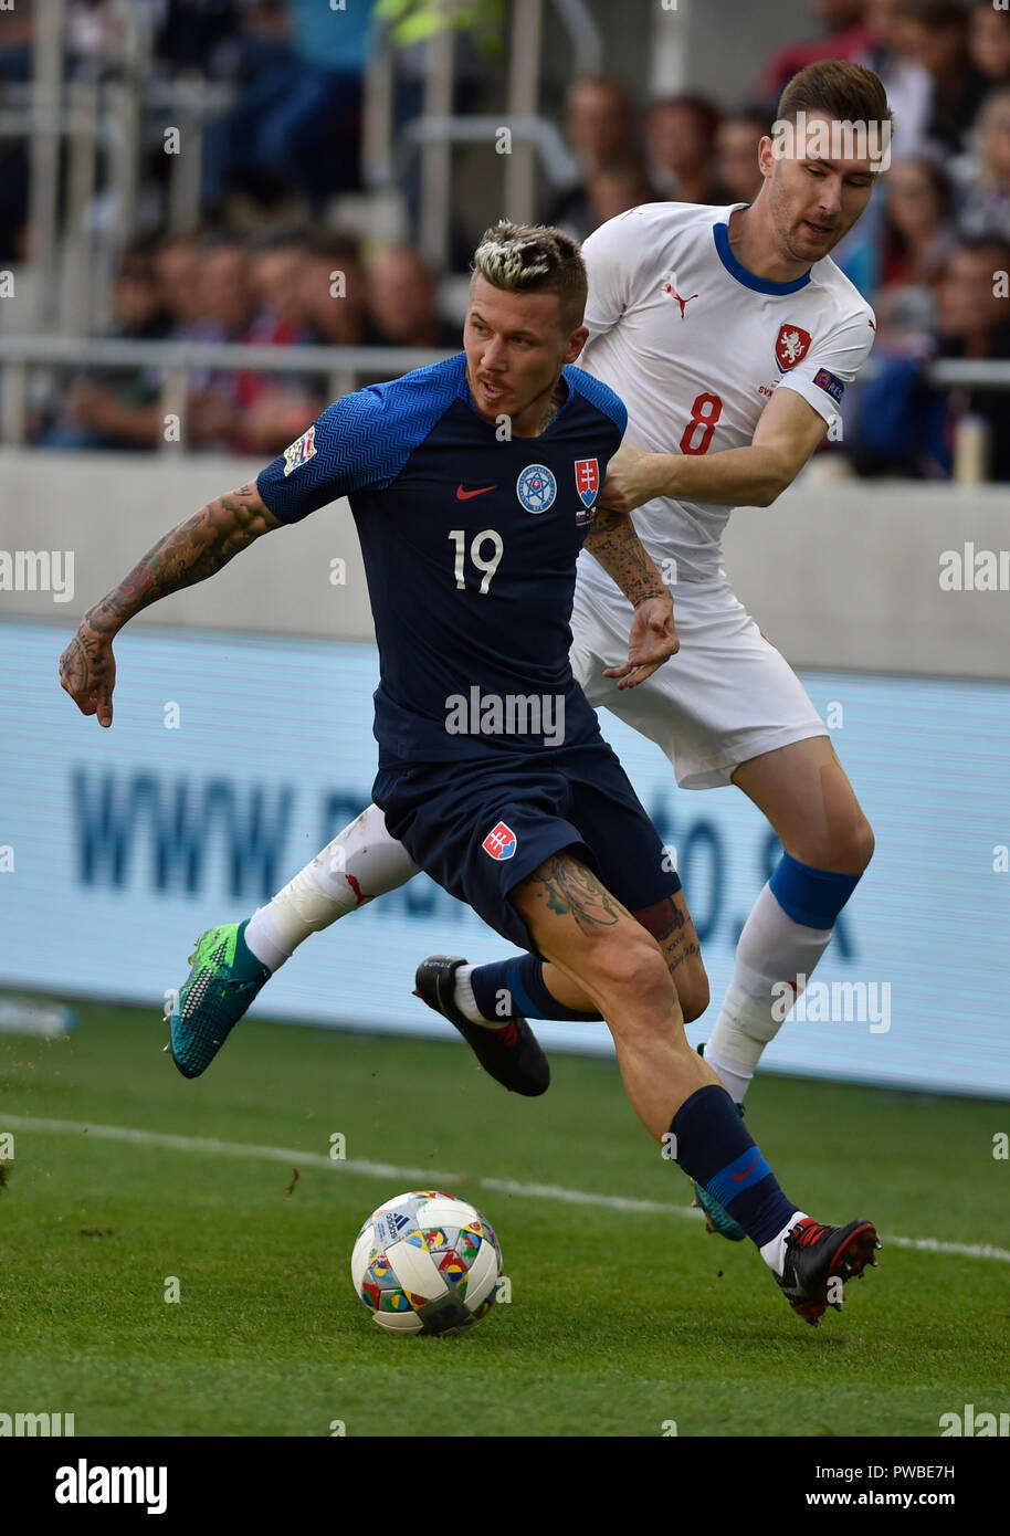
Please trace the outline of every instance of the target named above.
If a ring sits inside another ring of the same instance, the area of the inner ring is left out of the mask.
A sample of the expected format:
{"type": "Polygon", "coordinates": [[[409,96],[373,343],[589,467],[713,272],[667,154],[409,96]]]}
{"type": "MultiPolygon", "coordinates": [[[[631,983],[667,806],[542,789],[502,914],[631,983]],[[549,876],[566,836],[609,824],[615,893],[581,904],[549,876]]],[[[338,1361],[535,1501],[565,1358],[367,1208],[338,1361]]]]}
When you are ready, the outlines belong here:
{"type": "Polygon", "coordinates": [[[605,677],[620,679],[619,688],[635,688],[680,647],[674,628],[674,599],[626,513],[597,511],[585,548],[596,556],[635,610],[628,660],[603,673],[605,677]]]}

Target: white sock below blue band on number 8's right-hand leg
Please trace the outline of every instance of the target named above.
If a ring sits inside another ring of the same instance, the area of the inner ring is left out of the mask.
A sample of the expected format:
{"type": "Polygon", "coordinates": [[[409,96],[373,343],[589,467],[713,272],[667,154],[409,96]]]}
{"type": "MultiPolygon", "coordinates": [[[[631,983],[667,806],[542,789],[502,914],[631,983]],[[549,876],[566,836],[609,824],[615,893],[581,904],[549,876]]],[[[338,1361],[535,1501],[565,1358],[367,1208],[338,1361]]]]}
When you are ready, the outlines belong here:
{"type": "MultiPolygon", "coordinates": [[[[830,935],[830,928],[794,923],[769,885],[754,903],[737,945],[732,982],[705,1046],[705,1060],[735,1103],[743,1101],[764,1046],[775,1038],[789,1012],[783,1012],[780,1001],[783,983],[795,988],[801,977],[809,980],[830,935]]],[[[804,985],[800,983],[800,989],[804,985]]]]}

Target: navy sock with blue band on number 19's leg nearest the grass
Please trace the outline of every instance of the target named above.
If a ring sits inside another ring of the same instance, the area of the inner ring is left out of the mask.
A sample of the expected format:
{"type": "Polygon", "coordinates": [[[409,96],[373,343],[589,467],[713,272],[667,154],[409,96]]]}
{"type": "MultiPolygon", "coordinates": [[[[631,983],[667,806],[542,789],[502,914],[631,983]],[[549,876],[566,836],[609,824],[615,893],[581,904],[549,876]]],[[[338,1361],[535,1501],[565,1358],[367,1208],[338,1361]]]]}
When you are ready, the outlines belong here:
{"type": "Polygon", "coordinates": [[[686,1098],[669,1124],[677,1163],[703,1184],[758,1247],[800,1207],[783,1195],[740,1111],[711,1083],[686,1098]]]}

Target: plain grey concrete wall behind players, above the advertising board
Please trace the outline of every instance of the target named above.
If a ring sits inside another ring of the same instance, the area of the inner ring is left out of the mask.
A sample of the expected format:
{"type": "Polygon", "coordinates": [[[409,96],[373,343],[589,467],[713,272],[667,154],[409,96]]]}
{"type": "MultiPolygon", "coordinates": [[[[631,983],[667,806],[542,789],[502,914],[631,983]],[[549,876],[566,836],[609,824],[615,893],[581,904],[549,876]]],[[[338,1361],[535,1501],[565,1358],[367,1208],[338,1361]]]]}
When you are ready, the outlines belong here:
{"type": "MultiPolygon", "coordinates": [[[[74,551],[71,601],[0,590],[0,619],[34,614],[72,633],[169,527],[261,467],[209,456],[0,453],[0,551],[74,551]]],[[[774,507],[734,515],[726,567],[795,665],[1008,679],[1010,593],[939,585],[942,551],[965,542],[1010,548],[1005,487],[823,485],[807,472],[774,507]]],[[[269,535],[212,582],[135,622],[370,639],[347,502],[269,535]],[[335,561],[345,562],[342,584],[335,561]]]]}

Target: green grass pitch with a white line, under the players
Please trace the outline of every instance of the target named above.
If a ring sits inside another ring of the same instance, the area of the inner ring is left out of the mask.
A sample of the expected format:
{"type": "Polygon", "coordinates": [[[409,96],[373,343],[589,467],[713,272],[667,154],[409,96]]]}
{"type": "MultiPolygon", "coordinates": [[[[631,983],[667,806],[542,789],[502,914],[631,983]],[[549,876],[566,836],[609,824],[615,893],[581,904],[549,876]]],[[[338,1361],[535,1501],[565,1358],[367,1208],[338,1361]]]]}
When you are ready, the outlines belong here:
{"type": "Polygon", "coordinates": [[[758,1080],[748,1123],[784,1187],[884,1238],[844,1313],[810,1329],[751,1244],[685,1218],[688,1183],[609,1061],[556,1055],[530,1101],[462,1041],[249,1023],[186,1083],[163,1040],[150,1012],[91,1005],[66,1040],[0,1035],[0,1412],[72,1412],[78,1436],[327,1436],[338,1421],[347,1436],[660,1436],[671,1421],[680,1436],[936,1436],[941,1413],[1007,1407],[1010,1264],[887,1243],[1010,1247],[1010,1164],[993,1157],[1007,1103],[758,1080]],[[375,1206],[428,1184],[487,1210],[511,1301],[459,1338],[393,1338],[353,1293],[350,1249],[375,1206]]]}

